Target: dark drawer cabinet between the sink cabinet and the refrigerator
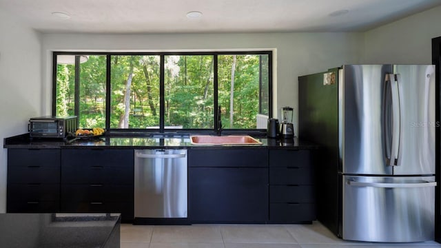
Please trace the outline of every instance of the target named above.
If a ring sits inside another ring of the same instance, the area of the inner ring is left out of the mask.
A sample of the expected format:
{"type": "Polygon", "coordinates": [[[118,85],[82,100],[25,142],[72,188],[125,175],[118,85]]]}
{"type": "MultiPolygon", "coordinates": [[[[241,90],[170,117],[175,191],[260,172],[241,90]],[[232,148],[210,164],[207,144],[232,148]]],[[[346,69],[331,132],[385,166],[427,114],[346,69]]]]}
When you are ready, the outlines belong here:
{"type": "Polygon", "coordinates": [[[269,223],[316,220],[311,158],[306,149],[269,149],[269,223]]]}

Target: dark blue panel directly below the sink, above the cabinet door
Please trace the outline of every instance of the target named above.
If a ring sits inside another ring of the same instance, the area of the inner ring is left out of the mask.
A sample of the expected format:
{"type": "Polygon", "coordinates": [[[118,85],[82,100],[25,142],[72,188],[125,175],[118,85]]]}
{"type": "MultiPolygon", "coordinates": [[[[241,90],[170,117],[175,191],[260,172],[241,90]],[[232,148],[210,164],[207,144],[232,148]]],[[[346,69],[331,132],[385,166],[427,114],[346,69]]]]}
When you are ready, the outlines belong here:
{"type": "Polygon", "coordinates": [[[189,149],[189,167],[268,167],[267,149],[189,149]]]}

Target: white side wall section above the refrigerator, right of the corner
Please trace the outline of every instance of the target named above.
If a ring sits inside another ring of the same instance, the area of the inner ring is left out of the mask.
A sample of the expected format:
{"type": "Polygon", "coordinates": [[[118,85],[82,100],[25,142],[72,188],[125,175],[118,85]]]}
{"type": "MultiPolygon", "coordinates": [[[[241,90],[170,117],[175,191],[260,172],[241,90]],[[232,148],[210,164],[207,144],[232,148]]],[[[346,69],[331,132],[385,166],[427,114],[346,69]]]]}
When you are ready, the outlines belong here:
{"type": "Polygon", "coordinates": [[[432,63],[441,36],[441,6],[365,32],[364,63],[432,63]]]}

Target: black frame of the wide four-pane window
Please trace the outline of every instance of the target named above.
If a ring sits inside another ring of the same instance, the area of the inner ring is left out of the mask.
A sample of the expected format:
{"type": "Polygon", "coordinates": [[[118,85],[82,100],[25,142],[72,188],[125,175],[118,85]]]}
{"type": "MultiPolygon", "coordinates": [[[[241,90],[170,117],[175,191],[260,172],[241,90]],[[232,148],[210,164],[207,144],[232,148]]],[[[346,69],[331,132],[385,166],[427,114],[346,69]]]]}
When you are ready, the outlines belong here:
{"type": "MultiPolygon", "coordinates": [[[[245,51],[217,51],[217,52],[65,52],[65,51],[53,51],[52,52],[52,115],[57,113],[57,56],[58,55],[75,55],[75,65],[79,65],[79,55],[105,55],[106,56],[106,79],[105,79],[105,130],[109,133],[116,132],[201,132],[201,131],[214,131],[218,129],[218,123],[216,119],[218,118],[217,111],[214,112],[213,129],[169,129],[164,128],[164,114],[165,114],[165,56],[172,55],[203,55],[203,56],[213,56],[213,97],[214,97],[214,110],[218,108],[218,55],[267,55],[268,56],[268,117],[273,116],[273,52],[271,50],[245,50],[245,51]],[[110,128],[110,112],[111,112],[111,56],[134,56],[134,55],[147,55],[147,56],[160,56],[160,75],[159,75],[159,129],[140,129],[140,128],[110,128]]],[[[261,64],[259,65],[259,72],[262,73],[261,64]]],[[[260,77],[261,79],[261,77],[260,77]]],[[[75,114],[79,113],[79,66],[75,66],[75,114]]],[[[262,82],[259,80],[259,87],[262,82]]],[[[262,102],[260,96],[261,90],[259,90],[259,103],[262,102]]],[[[259,112],[261,111],[261,106],[259,106],[259,112]]],[[[229,132],[255,132],[262,131],[263,129],[226,129],[229,132]]]]}

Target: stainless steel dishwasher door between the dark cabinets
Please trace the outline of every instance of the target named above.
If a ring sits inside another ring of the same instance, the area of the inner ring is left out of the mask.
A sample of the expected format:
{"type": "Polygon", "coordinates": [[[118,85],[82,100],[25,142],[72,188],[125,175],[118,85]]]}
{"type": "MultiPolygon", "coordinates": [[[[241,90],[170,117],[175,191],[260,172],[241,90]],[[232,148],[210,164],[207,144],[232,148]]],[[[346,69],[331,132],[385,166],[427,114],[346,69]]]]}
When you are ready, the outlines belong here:
{"type": "Polygon", "coordinates": [[[135,218],[187,218],[187,150],[135,150],[135,218]]]}

